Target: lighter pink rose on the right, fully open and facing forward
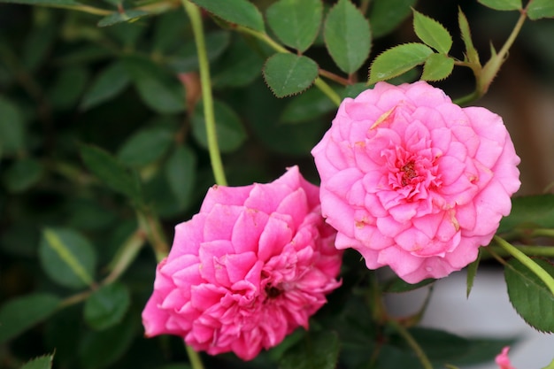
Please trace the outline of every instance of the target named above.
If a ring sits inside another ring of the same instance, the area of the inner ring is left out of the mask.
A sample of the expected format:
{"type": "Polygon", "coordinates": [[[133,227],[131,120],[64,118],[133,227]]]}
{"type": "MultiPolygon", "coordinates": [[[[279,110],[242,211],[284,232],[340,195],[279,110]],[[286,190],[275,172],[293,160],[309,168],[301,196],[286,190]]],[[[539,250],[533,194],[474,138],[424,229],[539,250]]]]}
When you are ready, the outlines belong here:
{"type": "Polygon", "coordinates": [[[502,119],[424,81],[380,82],[344,99],[312,155],[335,246],[409,283],[475,260],[520,185],[502,119]]]}

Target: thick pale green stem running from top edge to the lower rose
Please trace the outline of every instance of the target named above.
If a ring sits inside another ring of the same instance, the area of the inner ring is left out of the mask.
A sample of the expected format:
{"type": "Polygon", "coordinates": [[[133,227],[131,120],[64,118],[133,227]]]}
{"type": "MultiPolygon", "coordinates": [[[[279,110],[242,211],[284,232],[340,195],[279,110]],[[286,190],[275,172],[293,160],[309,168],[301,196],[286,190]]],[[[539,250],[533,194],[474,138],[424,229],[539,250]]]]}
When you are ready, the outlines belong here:
{"type": "Polygon", "coordinates": [[[223,170],[223,164],[221,162],[218,135],[215,126],[212,81],[210,79],[210,65],[208,63],[208,54],[206,52],[202,17],[196,5],[190,3],[189,0],[182,0],[182,4],[185,11],[189,15],[192,32],[195,36],[196,52],[198,54],[198,65],[200,69],[200,84],[202,86],[202,102],[204,104],[204,120],[206,125],[206,135],[208,136],[208,150],[210,151],[212,172],[217,184],[227,186],[227,179],[225,178],[225,171],[223,170]]]}

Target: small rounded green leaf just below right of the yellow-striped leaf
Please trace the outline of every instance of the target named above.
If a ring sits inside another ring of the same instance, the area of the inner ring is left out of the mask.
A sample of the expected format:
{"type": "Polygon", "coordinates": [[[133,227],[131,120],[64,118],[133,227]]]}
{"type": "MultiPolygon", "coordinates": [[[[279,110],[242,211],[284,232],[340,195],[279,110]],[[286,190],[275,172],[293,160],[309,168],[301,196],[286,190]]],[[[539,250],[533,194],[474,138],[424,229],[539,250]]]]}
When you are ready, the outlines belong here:
{"type": "Polygon", "coordinates": [[[119,282],[96,289],[85,303],[85,321],[96,330],[104,330],[118,324],[130,304],[127,287],[119,282]]]}

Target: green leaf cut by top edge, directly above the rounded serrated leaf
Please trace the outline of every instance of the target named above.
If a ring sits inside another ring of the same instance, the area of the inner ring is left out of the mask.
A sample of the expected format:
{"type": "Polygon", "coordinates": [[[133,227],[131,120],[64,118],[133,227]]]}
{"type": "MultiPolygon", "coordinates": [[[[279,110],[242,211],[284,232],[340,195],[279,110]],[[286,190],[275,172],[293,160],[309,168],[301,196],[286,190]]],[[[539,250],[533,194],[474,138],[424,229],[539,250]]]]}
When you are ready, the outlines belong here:
{"type": "Polygon", "coordinates": [[[265,17],[281,42],[304,52],[318,35],[323,4],[321,0],[280,0],[267,8],[265,17]]]}

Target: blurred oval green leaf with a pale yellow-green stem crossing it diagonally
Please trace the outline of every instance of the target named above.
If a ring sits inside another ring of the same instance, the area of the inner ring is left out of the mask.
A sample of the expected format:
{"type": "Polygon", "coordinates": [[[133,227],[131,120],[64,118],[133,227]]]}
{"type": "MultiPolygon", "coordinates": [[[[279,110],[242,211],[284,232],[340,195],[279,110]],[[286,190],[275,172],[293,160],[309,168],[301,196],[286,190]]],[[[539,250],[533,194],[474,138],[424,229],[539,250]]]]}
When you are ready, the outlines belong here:
{"type": "Polygon", "coordinates": [[[94,283],[96,252],[72,229],[44,228],[39,258],[44,272],[62,286],[83,288],[94,283]]]}

